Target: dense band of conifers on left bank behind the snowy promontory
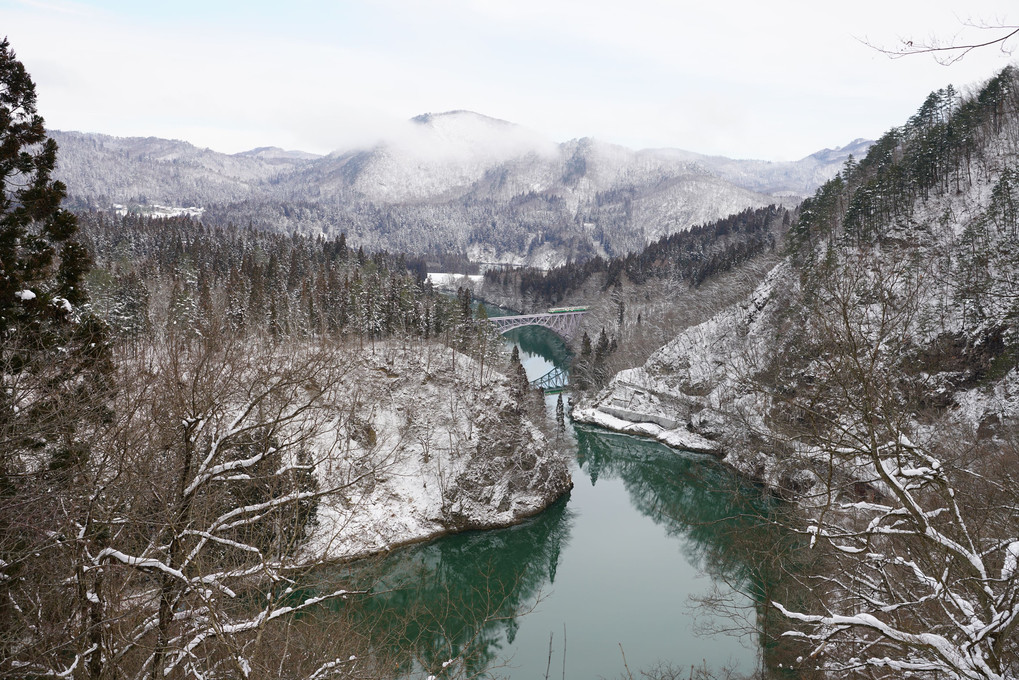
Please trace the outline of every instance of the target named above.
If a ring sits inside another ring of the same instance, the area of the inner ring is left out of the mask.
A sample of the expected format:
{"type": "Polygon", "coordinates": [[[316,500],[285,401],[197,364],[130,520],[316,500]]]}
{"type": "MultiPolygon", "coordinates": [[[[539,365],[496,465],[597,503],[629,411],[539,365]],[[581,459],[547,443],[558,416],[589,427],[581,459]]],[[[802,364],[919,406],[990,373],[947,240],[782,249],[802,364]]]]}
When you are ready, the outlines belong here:
{"type": "Polygon", "coordinates": [[[231,331],[367,341],[467,332],[470,294],[453,300],[425,281],[420,258],[352,250],[344,234],[316,240],[190,217],[79,217],[96,253],[92,305],[120,337],[222,318],[231,331]]]}

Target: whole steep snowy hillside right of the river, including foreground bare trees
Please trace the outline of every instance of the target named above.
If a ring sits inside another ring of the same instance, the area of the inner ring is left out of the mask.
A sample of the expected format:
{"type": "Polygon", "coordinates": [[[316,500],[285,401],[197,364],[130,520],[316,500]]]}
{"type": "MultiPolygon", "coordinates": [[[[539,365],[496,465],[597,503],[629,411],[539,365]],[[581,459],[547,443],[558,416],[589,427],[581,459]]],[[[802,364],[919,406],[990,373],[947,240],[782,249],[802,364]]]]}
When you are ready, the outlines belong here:
{"type": "Polygon", "coordinates": [[[575,417],[798,500],[814,598],[774,607],[808,668],[1017,677],[1019,71],[932,93],[786,253],[575,417]]]}

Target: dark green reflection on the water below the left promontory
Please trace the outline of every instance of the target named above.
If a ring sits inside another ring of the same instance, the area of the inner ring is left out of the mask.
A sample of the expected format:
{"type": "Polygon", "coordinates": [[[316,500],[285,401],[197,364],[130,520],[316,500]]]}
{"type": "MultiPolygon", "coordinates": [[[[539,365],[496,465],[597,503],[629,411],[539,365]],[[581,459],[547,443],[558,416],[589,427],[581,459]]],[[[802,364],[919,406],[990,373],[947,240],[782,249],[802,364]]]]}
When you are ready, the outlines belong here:
{"type": "Polygon", "coordinates": [[[374,585],[358,616],[401,675],[438,675],[449,660],[467,677],[491,671],[513,644],[519,617],[555,582],[571,522],[561,499],[519,526],[398,551],[360,575],[374,585]]]}

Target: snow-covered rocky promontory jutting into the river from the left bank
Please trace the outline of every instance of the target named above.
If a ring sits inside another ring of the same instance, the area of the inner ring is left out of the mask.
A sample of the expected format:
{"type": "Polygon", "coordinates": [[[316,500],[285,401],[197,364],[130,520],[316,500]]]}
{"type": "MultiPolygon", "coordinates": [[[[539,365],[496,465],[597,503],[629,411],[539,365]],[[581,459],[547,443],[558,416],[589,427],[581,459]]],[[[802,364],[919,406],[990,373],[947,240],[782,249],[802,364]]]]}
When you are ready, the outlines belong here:
{"type": "Polygon", "coordinates": [[[506,526],[573,483],[566,459],[521,413],[504,376],[439,345],[366,349],[350,402],[320,447],[308,551],[346,559],[452,531],[506,526]]]}

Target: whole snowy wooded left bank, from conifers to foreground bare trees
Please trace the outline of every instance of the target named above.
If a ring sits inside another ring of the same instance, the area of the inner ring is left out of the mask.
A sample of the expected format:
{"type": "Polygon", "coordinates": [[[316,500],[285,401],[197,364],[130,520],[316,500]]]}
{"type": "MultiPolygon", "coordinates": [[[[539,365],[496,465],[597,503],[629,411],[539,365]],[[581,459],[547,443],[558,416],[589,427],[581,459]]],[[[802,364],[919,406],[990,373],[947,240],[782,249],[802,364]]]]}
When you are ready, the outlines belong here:
{"type": "Polygon", "coordinates": [[[35,316],[0,319],[4,677],[396,677],[371,624],[333,634],[365,594],[335,561],[572,486],[542,395],[420,261],[186,216],[65,225],[94,257],[77,297],[22,279],[8,308],[35,316]],[[327,634],[314,614],[351,594],[327,634]]]}

